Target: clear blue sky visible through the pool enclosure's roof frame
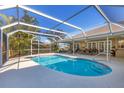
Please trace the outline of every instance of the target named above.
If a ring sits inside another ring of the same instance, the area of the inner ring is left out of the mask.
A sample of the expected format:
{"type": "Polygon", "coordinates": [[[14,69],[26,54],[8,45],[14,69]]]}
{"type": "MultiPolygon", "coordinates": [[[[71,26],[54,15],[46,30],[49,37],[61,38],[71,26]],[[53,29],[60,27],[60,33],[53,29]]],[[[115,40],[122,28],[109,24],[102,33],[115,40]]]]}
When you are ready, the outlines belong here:
{"type": "MultiPolygon", "coordinates": [[[[27,7],[38,10],[40,12],[43,12],[45,14],[48,14],[60,20],[66,20],[67,18],[79,12],[81,9],[86,8],[87,6],[86,5],[61,5],[61,6],[59,5],[31,5],[27,7]]],[[[100,6],[100,7],[103,9],[104,13],[108,16],[108,18],[111,21],[118,22],[118,21],[124,20],[124,12],[122,12],[124,11],[124,7],[110,7],[110,6],[100,6]]],[[[9,10],[0,11],[0,13],[7,14],[9,16],[12,16],[12,15],[15,16],[16,11],[17,10],[13,8],[9,10]]],[[[53,28],[55,25],[59,24],[56,21],[39,16],[34,13],[29,12],[29,14],[37,18],[39,26],[53,28]]],[[[24,15],[23,10],[19,9],[20,18],[23,15],[24,15]]],[[[104,25],[106,23],[105,19],[98,13],[98,11],[93,6],[81,12],[79,15],[73,17],[67,22],[73,25],[76,25],[78,27],[81,27],[85,31],[87,31],[88,29],[94,28],[96,26],[104,25]]],[[[64,24],[58,26],[55,29],[64,30],[68,32],[70,35],[76,35],[76,34],[81,33],[81,31],[74,29],[72,27],[69,27],[67,25],[64,25],[64,24]]]]}

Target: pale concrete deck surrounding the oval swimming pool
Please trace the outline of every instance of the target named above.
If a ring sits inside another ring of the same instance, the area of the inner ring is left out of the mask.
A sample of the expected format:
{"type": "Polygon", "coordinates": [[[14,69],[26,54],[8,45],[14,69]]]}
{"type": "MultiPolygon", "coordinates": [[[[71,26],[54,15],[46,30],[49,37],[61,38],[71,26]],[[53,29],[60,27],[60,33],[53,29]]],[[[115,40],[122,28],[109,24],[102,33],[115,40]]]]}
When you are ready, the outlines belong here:
{"type": "MultiPolygon", "coordinates": [[[[48,54],[49,55],[49,54],[48,54]]],[[[72,55],[70,55],[72,56],[72,55]]],[[[75,57],[92,59],[93,56],[75,55],[75,57]]],[[[105,60],[105,57],[99,57],[105,60]]],[[[0,87],[13,88],[123,88],[124,58],[111,58],[110,62],[98,61],[112,68],[112,72],[103,76],[76,76],[43,67],[30,59],[21,57],[19,69],[18,58],[10,59],[0,68],[0,87]]]]}

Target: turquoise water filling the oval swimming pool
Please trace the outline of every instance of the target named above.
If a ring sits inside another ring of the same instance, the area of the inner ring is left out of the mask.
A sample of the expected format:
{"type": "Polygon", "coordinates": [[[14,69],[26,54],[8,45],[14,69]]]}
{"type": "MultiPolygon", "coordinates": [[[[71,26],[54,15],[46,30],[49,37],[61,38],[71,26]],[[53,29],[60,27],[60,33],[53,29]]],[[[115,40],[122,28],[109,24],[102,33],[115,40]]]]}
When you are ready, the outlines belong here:
{"type": "Polygon", "coordinates": [[[63,56],[33,57],[33,61],[60,72],[80,76],[101,76],[112,72],[112,69],[101,63],[63,56]]]}

